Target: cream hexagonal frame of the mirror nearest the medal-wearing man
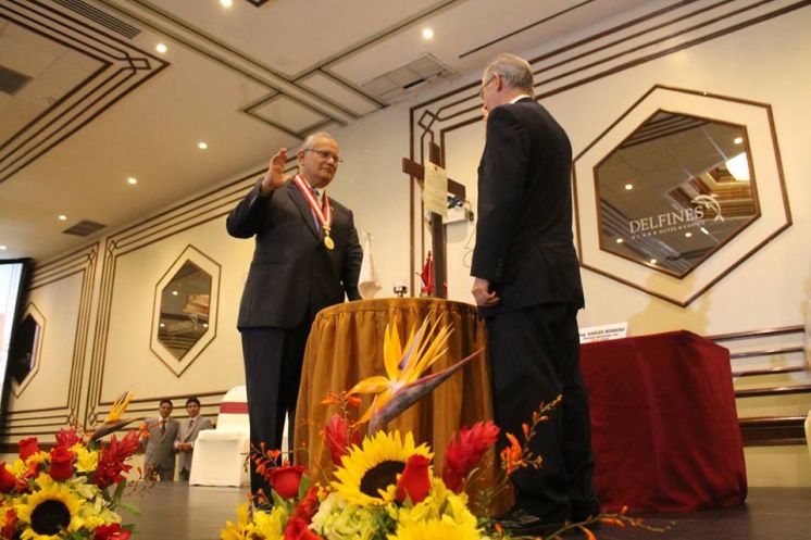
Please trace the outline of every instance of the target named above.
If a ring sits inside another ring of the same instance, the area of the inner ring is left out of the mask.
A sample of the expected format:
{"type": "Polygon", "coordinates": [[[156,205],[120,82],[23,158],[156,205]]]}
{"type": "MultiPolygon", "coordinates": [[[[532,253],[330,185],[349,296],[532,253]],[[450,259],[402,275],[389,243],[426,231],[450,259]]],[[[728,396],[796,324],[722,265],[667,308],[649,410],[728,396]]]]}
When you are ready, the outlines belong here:
{"type": "Polygon", "coordinates": [[[188,367],[195,362],[200,353],[211,343],[216,337],[217,326],[217,306],[220,304],[220,263],[211,259],[209,255],[198,250],[194,246],[189,244],[175,260],[174,263],[169,267],[160,281],[155,285],[155,292],[152,306],[152,326],[150,336],[150,349],[158,356],[163,364],[169,367],[176,376],[183,375],[188,367]],[[211,276],[211,294],[209,298],[209,317],[208,317],[208,329],[200,338],[195,342],[194,346],[180,357],[176,357],[159,339],[159,325],[161,321],[161,298],[163,289],[173,280],[174,276],[180,271],[180,268],[190,262],[195,266],[199,267],[203,272],[211,276]]]}

